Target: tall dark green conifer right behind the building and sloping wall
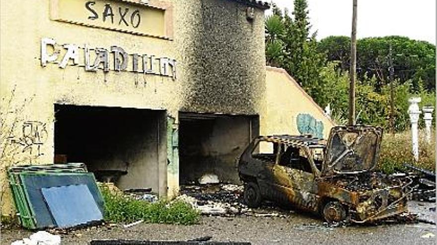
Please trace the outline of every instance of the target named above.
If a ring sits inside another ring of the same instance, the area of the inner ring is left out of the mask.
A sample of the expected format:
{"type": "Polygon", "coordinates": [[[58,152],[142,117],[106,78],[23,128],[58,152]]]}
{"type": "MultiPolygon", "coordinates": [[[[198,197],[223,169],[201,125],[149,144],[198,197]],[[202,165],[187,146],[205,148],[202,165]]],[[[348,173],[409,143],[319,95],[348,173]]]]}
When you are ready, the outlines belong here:
{"type": "Polygon", "coordinates": [[[266,19],[267,64],[286,69],[317,101],[319,73],[325,60],[317,50],[316,34],[309,33],[306,0],[294,0],[292,15],[287,9],[283,14],[274,5],[273,15],[266,19]]]}

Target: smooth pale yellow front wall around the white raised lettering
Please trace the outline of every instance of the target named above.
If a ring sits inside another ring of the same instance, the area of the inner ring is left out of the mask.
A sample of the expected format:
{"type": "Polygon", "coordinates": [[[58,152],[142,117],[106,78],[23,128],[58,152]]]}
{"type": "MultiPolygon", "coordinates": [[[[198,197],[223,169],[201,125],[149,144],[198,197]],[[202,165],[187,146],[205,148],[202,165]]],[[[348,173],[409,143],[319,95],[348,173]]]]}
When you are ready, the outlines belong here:
{"type": "MultiPolygon", "coordinates": [[[[177,4],[183,3],[178,1],[177,4]]],[[[31,146],[32,152],[26,150],[25,158],[18,160],[20,163],[53,162],[54,103],[165,108],[170,115],[176,117],[181,89],[180,83],[171,77],[112,70],[107,73],[102,70],[87,72],[83,66],[67,66],[61,69],[55,63],[42,67],[40,62],[42,38],[53,38],[58,44],[75,44],[81,47],[87,44],[91,48],[110,49],[111,46],[117,45],[128,53],[154,54],[156,57],[178,60],[182,55],[174,40],[54,21],[50,19],[49,0],[38,2],[28,0],[20,4],[15,1],[4,1],[0,9],[0,95],[1,98],[9,98],[15,88],[15,96],[10,108],[19,108],[25,100],[27,101],[24,110],[18,115],[8,113],[10,120],[13,120],[13,117],[19,118],[11,136],[17,140],[22,138],[21,130],[25,121],[38,121],[45,125],[44,134],[40,139],[42,144],[31,146]],[[36,147],[39,147],[39,150],[36,147]]],[[[114,8],[114,13],[117,12],[118,9],[114,8]]],[[[156,25],[155,28],[162,29],[163,26],[156,25]]],[[[162,30],[155,31],[155,33],[161,32],[162,30]]],[[[183,38],[183,33],[179,33],[179,38],[183,38]]],[[[62,57],[63,53],[60,55],[62,57]]],[[[112,53],[109,55],[110,67],[113,67],[113,55],[112,53]]],[[[80,55],[80,59],[82,57],[80,55]]],[[[83,61],[80,60],[80,63],[83,61]]],[[[140,67],[142,67],[141,62],[140,67]]],[[[180,71],[180,73],[184,72],[180,71]]],[[[1,101],[1,106],[4,111],[3,109],[7,107],[6,101],[1,101]]],[[[24,146],[16,147],[24,149],[24,146]]],[[[12,210],[12,203],[4,166],[10,162],[1,162],[1,164],[1,187],[7,191],[2,200],[2,214],[7,214],[12,210]]]]}

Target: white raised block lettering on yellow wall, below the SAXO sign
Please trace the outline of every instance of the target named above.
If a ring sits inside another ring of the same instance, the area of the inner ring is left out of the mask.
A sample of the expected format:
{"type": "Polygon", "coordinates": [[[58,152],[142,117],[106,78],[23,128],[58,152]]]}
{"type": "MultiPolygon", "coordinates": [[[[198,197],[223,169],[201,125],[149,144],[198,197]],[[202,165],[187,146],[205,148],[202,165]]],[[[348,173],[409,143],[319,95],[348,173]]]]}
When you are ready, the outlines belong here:
{"type": "Polygon", "coordinates": [[[129,54],[119,46],[111,46],[110,50],[104,48],[91,49],[87,45],[79,48],[74,44],[65,44],[62,47],[66,51],[61,58],[60,51],[58,50],[59,46],[57,46],[54,39],[41,39],[41,66],[45,67],[48,63],[58,63],[59,68],[65,69],[69,63],[71,65],[78,65],[79,50],[82,49],[85,71],[97,72],[99,69],[102,69],[104,72],[109,72],[110,70],[117,72],[130,71],[176,79],[176,60],[171,58],[155,57],[155,55],[148,54],[140,55],[138,53],[129,54]],[[112,69],[109,62],[110,52],[113,53],[112,59],[114,61],[112,69]],[[129,56],[132,58],[129,58],[129,56]],[[140,70],[139,65],[140,59],[142,59],[142,70],[140,70]],[[132,70],[128,70],[130,60],[132,60],[132,70]]]}

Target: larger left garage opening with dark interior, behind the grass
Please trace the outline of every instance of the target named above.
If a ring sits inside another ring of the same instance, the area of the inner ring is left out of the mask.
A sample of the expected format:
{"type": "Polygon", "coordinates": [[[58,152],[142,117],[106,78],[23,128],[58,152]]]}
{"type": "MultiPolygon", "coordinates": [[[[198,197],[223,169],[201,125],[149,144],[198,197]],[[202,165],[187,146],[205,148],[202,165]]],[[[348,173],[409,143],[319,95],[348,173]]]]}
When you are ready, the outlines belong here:
{"type": "Polygon", "coordinates": [[[121,189],[166,185],[164,110],[55,104],[55,118],[55,163],[83,162],[121,189]]]}

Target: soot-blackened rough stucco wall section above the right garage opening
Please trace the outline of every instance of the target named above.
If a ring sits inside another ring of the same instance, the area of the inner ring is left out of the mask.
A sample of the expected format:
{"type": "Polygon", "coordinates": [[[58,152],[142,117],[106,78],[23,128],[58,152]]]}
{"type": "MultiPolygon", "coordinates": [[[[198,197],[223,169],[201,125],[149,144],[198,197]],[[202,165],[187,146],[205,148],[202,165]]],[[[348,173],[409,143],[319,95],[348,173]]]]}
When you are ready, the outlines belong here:
{"type": "Polygon", "coordinates": [[[194,14],[182,110],[257,114],[264,92],[264,11],[246,19],[243,4],[200,0],[194,14]]]}

